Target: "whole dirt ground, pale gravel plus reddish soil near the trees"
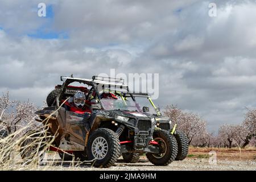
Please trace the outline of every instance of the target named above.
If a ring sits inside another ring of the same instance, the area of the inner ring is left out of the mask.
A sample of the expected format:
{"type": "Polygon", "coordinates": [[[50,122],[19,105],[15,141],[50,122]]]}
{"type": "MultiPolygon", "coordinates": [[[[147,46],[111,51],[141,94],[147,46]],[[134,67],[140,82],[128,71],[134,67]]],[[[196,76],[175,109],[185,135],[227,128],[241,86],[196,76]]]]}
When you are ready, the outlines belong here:
{"type": "MultiPolygon", "coordinates": [[[[146,156],[141,156],[138,163],[129,164],[118,159],[115,166],[110,168],[94,168],[90,163],[63,162],[59,155],[52,152],[47,155],[47,166],[43,170],[111,170],[111,171],[151,171],[156,167],[148,162],[146,156]]],[[[174,161],[168,166],[158,166],[158,170],[253,170],[256,171],[256,148],[239,150],[239,148],[189,148],[189,154],[183,161],[174,161]],[[209,153],[210,152],[210,153],[209,153]]]]}

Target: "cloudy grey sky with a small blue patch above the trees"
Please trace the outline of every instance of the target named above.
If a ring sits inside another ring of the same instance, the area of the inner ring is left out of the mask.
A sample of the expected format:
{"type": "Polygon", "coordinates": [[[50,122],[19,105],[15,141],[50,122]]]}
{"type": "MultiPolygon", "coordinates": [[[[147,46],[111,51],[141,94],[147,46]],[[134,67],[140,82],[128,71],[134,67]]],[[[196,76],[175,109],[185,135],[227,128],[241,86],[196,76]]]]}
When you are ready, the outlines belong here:
{"type": "Polygon", "coordinates": [[[199,113],[210,131],[240,123],[256,106],[256,2],[0,1],[0,92],[42,105],[60,75],[110,68],[159,73],[155,103],[199,113]]]}

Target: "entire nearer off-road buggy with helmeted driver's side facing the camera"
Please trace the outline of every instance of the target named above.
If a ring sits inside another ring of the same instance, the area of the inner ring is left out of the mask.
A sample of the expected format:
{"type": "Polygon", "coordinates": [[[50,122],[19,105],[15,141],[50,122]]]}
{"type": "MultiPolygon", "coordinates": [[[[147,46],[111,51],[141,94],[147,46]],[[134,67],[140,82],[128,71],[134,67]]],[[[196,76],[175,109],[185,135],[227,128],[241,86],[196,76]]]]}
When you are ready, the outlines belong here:
{"type": "Polygon", "coordinates": [[[36,112],[36,120],[50,123],[48,135],[57,134],[50,149],[59,152],[64,160],[69,159],[68,154],[80,160],[94,159],[94,167],[113,166],[121,154],[126,162],[137,162],[140,154],[146,154],[157,166],[175,160],[178,146],[174,135],[156,129],[156,115],[143,112],[122,79],[61,77],[61,81],[55,96],[51,94],[48,99],[49,106],[36,112]],[[90,114],[73,113],[62,106],[77,90],[85,92],[90,114]],[[101,98],[106,90],[119,99],[101,98]]]}

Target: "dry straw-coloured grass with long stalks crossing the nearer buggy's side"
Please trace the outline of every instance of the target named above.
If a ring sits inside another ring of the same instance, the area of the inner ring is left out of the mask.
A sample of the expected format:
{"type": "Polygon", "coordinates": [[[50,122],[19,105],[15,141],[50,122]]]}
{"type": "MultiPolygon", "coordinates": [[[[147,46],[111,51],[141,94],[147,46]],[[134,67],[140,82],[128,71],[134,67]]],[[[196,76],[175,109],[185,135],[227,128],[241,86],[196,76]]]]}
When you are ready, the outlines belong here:
{"type": "MultiPolygon", "coordinates": [[[[0,170],[48,170],[54,166],[55,159],[59,159],[59,156],[54,156],[51,163],[46,163],[44,156],[50,152],[49,147],[52,146],[57,136],[57,132],[53,136],[47,134],[47,130],[50,127],[47,124],[48,120],[57,110],[44,119],[43,122],[46,125],[41,125],[35,129],[33,127],[35,121],[32,121],[26,127],[22,127],[5,138],[0,138],[0,170]],[[31,128],[33,129],[32,131],[31,128]],[[42,165],[46,164],[47,166],[42,167],[42,165]]],[[[56,154],[57,152],[55,152],[56,154]]],[[[76,167],[82,163],[93,163],[94,160],[77,162],[73,157],[70,166],[76,167]]],[[[62,160],[61,166],[63,163],[64,160],[62,160]]]]}

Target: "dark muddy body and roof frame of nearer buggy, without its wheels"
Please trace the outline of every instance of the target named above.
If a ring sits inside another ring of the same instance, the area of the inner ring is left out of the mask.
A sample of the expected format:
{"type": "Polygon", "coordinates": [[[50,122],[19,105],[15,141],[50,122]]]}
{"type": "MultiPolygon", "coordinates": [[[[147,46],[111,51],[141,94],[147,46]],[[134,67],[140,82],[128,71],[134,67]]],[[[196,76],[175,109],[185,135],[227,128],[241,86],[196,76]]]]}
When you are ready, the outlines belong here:
{"type": "Polygon", "coordinates": [[[104,110],[101,102],[92,104],[92,113],[77,114],[65,110],[61,106],[61,101],[66,100],[73,92],[68,90],[81,90],[80,87],[69,88],[72,82],[80,82],[91,86],[88,95],[92,92],[96,93],[96,97],[100,100],[98,88],[118,87],[126,89],[130,97],[135,101],[133,94],[129,93],[129,88],[124,85],[122,80],[109,78],[104,81],[103,77],[93,77],[90,79],[61,77],[64,81],[63,85],[57,86],[59,90],[55,102],[52,106],[39,110],[36,114],[39,115],[37,121],[50,123],[49,134],[56,135],[55,147],[52,150],[62,152],[66,151],[74,153],[76,151],[85,152],[90,134],[98,128],[107,128],[113,130],[119,135],[121,153],[138,152],[158,154],[159,147],[154,143],[152,135],[154,133],[156,120],[155,115],[143,113],[142,110],[126,111],[126,110],[104,110]],[[51,117],[49,118],[49,116],[51,117]],[[118,119],[118,116],[129,118],[127,121],[118,119]]]}

